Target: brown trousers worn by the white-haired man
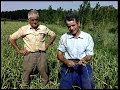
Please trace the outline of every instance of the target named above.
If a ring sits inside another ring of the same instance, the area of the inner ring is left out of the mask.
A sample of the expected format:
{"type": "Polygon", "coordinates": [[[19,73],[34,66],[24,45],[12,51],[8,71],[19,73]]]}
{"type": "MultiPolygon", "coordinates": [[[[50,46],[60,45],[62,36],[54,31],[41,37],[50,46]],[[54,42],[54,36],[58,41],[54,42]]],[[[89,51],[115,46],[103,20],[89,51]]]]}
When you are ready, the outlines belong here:
{"type": "Polygon", "coordinates": [[[48,65],[45,52],[35,52],[25,55],[23,60],[23,83],[29,84],[30,73],[37,67],[44,83],[49,81],[48,65]]]}

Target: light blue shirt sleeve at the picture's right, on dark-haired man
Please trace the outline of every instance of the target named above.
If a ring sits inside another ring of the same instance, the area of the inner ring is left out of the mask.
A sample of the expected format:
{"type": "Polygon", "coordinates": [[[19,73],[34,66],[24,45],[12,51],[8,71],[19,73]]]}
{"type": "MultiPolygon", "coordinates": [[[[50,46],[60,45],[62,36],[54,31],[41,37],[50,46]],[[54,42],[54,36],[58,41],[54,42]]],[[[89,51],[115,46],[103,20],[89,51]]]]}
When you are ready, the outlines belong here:
{"type": "Polygon", "coordinates": [[[94,42],[92,37],[89,35],[88,46],[86,48],[86,55],[94,55],[93,47],[94,47],[94,42]]]}

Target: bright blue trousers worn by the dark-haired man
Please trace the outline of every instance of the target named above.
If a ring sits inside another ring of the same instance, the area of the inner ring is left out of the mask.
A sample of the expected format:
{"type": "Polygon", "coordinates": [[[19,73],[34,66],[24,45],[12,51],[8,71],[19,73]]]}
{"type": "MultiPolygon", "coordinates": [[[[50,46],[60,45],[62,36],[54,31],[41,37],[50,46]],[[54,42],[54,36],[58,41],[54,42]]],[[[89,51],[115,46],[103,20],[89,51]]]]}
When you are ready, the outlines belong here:
{"type": "Polygon", "coordinates": [[[92,68],[89,64],[86,64],[86,66],[75,65],[72,68],[63,64],[59,88],[72,89],[74,84],[77,84],[81,89],[94,89],[92,68]]]}

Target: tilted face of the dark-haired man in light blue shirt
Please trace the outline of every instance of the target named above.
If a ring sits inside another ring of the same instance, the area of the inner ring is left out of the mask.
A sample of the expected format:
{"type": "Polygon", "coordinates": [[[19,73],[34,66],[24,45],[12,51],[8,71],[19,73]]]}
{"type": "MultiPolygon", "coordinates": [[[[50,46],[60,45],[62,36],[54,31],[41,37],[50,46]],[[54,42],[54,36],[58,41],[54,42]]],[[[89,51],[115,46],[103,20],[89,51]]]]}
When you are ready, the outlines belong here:
{"type": "Polygon", "coordinates": [[[67,23],[67,27],[68,27],[70,33],[72,35],[76,35],[79,30],[80,23],[77,23],[75,20],[66,21],[66,23],[67,23]]]}

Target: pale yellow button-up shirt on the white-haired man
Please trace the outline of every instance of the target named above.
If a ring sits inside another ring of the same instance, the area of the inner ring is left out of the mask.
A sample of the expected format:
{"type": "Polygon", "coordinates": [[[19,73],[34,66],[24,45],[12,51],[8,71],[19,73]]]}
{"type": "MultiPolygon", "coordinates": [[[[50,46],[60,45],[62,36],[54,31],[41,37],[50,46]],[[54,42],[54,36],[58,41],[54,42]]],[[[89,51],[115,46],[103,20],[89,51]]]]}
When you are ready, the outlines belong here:
{"type": "Polygon", "coordinates": [[[30,24],[22,26],[15,33],[10,35],[12,39],[23,38],[24,48],[28,51],[45,51],[45,36],[54,36],[55,33],[44,25],[39,25],[37,30],[33,29],[30,24]]]}

